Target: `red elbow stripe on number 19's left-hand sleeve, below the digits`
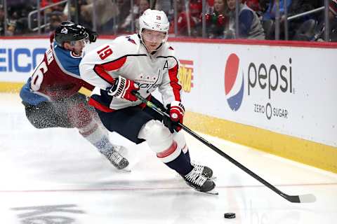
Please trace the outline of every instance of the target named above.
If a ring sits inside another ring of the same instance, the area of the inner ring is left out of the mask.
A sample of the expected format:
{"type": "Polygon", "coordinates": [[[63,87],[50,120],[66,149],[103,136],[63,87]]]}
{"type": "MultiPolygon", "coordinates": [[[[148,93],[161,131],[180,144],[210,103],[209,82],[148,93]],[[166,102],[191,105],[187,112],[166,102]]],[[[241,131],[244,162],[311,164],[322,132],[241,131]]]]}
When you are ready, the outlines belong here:
{"type": "Polygon", "coordinates": [[[100,76],[100,78],[103,78],[108,83],[113,85],[114,78],[112,78],[110,74],[107,73],[107,71],[117,70],[121,66],[123,66],[125,62],[126,62],[126,56],[116,59],[112,62],[107,62],[105,64],[95,64],[95,66],[93,67],[93,71],[95,71],[95,73],[97,73],[98,76],[100,76]]]}

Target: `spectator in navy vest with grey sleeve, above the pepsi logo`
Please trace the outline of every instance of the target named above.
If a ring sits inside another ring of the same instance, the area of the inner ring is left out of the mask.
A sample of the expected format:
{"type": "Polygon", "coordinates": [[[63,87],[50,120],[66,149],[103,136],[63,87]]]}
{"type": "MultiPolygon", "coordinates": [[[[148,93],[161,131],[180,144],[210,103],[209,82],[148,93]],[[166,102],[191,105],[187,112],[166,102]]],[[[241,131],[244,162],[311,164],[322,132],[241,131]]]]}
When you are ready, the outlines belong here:
{"type": "MultiPolygon", "coordinates": [[[[230,26],[235,23],[235,0],[227,0],[228,15],[230,15],[230,26]]],[[[265,31],[261,25],[258,15],[246,4],[239,4],[239,38],[265,39],[265,31]]]]}

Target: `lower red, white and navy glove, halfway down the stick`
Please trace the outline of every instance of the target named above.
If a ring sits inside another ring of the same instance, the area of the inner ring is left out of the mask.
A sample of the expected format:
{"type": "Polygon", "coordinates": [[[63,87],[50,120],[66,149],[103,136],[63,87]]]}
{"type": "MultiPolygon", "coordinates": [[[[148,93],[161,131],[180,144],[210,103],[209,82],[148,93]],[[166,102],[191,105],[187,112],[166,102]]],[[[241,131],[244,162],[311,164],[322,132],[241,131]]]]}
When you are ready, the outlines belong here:
{"type": "Polygon", "coordinates": [[[173,133],[174,131],[179,132],[181,130],[181,127],[180,125],[178,125],[178,123],[183,124],[183,118],[185,113],[183,104],[178,101],[171,102],[171,104],[168,104],[166,106],[166,113],[168,113],[170,117],[168,118],[167,116],[164,116],[164,125],[169,128],[171,133],[173,133]]]}

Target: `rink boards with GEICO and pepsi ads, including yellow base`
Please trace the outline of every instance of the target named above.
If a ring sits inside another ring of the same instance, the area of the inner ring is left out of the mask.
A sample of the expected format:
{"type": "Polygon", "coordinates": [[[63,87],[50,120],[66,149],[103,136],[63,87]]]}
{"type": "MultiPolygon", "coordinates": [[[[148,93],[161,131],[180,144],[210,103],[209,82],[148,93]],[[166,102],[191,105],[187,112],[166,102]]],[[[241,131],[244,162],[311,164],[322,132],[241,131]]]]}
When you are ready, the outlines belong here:
{"type": "MultiPolygon", "coordinates": [[[[2,41],[6,48],[0,47],[0,90],[17,92],[48,40],[2,41]]],[[[336,45],[191,41],[172,42],[189,111],[186,125],[337,172],[336,45]]]]}

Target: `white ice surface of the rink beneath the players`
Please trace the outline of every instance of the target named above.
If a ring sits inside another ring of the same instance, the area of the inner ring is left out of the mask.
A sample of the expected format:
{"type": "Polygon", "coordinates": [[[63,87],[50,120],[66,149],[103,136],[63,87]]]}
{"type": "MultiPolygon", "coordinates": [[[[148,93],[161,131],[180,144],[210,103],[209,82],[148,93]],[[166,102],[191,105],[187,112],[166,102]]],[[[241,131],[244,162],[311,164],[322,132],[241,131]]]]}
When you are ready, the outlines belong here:
{"type": "Polygon", "coordinates": [[[34,129],[18,95],[0,94],[0,104],[0,223],[336,223],[336,174],[202,134],[284,193],[317,197],[292,204],[185,134],[192,160],[217,176],[219,195],[204,195],[146,144],[111,134],[131,160],[119,172],[77,130],[34,129]]]}

